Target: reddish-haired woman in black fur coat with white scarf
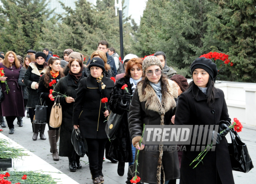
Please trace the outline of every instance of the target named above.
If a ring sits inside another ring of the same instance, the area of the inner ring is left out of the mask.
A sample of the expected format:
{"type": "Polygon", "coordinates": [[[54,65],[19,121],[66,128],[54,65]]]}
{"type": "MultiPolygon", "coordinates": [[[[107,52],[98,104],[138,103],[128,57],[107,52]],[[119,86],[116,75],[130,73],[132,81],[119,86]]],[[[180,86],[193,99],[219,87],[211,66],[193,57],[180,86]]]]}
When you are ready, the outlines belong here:
{"type": "Polygon", "coordinates": [[[135,147],[131,144],[131,135],[128,125],[128,114],[132,94],[136,85],[142,80],[142,62],[140,58],[133,58],[127,63],[125,77],[119,78],[112,90],[109,108],[113,113],[123,114],[123,118],[116,130],[116,138],[112,140],[109,148],[109,157],[118,160],[118,175],[123,176],[125,162],[129,162],[128,177],[126,183],[130,183],[133,174],[133,162],[135,147]],[[121,89],[127,85],[128,92],[121,89]]]}

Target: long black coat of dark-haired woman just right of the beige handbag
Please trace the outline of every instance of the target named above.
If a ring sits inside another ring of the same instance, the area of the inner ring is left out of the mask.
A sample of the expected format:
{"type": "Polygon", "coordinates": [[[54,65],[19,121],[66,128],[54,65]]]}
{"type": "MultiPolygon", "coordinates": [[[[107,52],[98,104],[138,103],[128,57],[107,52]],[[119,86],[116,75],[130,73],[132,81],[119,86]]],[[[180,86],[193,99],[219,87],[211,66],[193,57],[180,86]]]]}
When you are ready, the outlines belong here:
{"type": "MultiPolygon", "coordinates": [[[[81,80],[83,80],[83,75],[81,80]]],[[[62,77],[59,82],[55,85],[54,91],[66,94],[73,99],[76,99],[76,90],[81,83],[81,80],[76,83],[71,75],[67,74],[66,77],[62,77]]],[[[57,93],[53,94],[57,96],[57,93]]],[[[74,102],[68,104],[65,97],[60,97],[62,106],[62,123],[60,130],[60,143],[59,143],[59,156],[61,157],[72,157],[74,153],[74,147],[71,142],[71,134],[73,131],[73,107],[74,102]]]]}

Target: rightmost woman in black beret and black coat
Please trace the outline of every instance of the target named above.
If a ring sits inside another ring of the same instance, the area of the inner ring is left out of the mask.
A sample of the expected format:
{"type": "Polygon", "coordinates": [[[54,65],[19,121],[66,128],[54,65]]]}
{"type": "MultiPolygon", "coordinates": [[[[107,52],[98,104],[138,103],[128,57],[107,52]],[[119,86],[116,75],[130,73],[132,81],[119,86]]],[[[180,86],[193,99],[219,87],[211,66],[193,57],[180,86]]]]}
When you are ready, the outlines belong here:
{"type": "MultiPolygon", "coordinates": [[[[179,98],[175,114],[175,124],[178,125],[208,125],[203,129],[209,133],[209,125],[217,125],[215,151],[209,151],[204,157],[203,164],[197,162],[190,165],[200,152],[191,151],[187,146],[183,151],[181,162],[180,184],[234,184],[228,143],[225,138],[230,129],[223,123],[230,122],[228,109],[223,91],[214,87],[213,78],[218,74],[218,69],[210,59],[197,58],[191,65],[193,81],[189,89],[179,98]],[[226,129],[221,135],[220,131],[226,129]]],[[[194,129],[194,131],[198,131],[194,129]]],[[[193,134],[192,134],[193,135],[193,134]]],[[[191,139],[192,140],[192,139],[191,139]]],[[[208,142],[208,141],[206,141],[208,142]]],[[[198,145],[197,145],[198,146],[198,145]]],[[[206,145],[204,145],[206,146],[206,145]]]]}

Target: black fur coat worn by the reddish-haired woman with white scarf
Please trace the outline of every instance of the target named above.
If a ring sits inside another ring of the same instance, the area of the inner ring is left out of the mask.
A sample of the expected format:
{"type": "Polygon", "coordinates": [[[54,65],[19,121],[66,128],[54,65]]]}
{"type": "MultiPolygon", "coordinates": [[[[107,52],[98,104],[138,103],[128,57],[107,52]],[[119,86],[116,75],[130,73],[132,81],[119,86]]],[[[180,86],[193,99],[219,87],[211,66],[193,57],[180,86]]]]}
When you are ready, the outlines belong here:
{"type": "Polygon", "coordinates": [[[124,90],[121,89],[121,87],[125,84],[128,86],[128,92],[132,94],[130,77],[123,77],[116,81],[109,101],[109,108],[113,113],[124,115],[116,131],[116,139],[111,141],[108,156],[118,160],[119,162],[133,162],[131,135],[128,125],[130,101],[127,102],[126,105],[124,105],[122,101],[124,90]]]}

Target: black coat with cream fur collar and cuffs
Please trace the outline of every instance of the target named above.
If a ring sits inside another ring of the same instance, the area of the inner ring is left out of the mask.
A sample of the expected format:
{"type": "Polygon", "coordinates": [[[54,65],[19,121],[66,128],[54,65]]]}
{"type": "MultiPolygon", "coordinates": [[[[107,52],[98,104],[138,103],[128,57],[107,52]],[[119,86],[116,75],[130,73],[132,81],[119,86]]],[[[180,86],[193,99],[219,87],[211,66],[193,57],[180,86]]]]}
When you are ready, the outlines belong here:
{"type": "Polygon", "coordinates": [[[47,70],[47,67],[43,68],[41,72],[39,72],[35,63],[29,63],[28,70],[24,75],[24,83],[28,87],[28,108],[36,108],[36,105],[39,101],[39,96],[37,95],[37,89],[35,85],[39,83],[40,75],[44,74],[47,70]]]}

